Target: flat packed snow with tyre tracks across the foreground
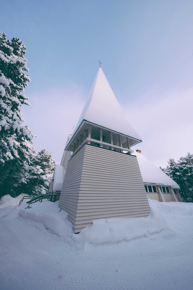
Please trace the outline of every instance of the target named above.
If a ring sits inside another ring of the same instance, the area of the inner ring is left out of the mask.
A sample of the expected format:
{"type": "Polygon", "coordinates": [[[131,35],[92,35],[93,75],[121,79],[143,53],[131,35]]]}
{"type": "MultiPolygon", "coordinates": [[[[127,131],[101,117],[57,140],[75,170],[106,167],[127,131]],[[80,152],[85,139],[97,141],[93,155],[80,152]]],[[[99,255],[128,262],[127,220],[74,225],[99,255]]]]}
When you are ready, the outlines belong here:
{"type": "Polygon", "coordinates": [[[151,246],[146,249],[146,240],[143,247],[136,246],[135,253],[129,246],[120,245],[92,247],[82,254],[75,247],[70,251],[70,246],[62,241],[54,244],[51,233],[44,236],[22,220],[3,220],[0,224],[3,290],[193,289],[192,240],[186,236],[175,240],[175,244],[172,235],[170,239],[163,236],[164,244],[168,241],[164,251],[157,250],[156,241],[149,241],[151,246]]]}

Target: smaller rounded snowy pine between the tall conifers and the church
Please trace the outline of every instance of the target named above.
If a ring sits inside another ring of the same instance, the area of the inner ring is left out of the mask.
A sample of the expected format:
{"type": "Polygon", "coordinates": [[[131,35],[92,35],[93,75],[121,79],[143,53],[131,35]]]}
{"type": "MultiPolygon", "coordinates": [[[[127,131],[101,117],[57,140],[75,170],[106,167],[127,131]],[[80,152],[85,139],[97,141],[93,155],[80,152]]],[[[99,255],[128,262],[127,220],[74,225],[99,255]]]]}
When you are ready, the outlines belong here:
{"type": "Polygon", "coordinates": [[[56,166],[53,155],[42,149],[32,158],[29,173],[26,178],[26,191],[30,195],[45,194],[48,192],[52,175],[56,166]]]}

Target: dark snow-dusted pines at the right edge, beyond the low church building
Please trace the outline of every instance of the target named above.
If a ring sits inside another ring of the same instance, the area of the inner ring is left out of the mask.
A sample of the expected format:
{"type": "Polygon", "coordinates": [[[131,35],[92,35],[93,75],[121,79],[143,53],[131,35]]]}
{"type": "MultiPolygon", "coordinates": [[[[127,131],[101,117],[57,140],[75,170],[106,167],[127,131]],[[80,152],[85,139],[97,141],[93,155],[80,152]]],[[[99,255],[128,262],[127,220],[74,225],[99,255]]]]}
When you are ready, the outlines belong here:
{"type": "Polygon", "coordinates": [[[193,202],[193,154],[188,153],[177,162],[169,159],[167,167],[160,169],[177,182],[181,197],[187,202],[193,202]]]}

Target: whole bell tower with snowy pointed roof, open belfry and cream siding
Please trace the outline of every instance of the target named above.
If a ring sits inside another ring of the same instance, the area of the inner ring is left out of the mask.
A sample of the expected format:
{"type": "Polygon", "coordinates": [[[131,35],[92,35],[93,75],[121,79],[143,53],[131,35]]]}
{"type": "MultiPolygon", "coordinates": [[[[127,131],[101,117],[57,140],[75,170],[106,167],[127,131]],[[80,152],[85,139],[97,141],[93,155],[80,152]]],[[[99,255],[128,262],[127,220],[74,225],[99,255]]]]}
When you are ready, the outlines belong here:
{"type": "Polygon", "coordinates": [[[68,212],[74,233],[95,219],[149,215],[137,157],[131,155],[139,142],[100,67],[65,147],[72,155],[58,206],[68,212]]]}

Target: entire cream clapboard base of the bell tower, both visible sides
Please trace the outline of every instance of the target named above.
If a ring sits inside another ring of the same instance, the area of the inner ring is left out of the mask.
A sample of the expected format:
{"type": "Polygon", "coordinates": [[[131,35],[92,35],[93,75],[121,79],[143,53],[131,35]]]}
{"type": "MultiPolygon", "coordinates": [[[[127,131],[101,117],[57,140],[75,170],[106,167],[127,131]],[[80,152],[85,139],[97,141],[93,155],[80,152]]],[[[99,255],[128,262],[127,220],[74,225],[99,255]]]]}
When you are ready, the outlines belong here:
{"type": "Polygon", "coordinates": [[[75,233],[94,219],[148,216],[137,157],[84,145],[68,162],[59,207],[69,213],[75,233]]]}

